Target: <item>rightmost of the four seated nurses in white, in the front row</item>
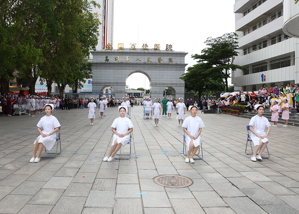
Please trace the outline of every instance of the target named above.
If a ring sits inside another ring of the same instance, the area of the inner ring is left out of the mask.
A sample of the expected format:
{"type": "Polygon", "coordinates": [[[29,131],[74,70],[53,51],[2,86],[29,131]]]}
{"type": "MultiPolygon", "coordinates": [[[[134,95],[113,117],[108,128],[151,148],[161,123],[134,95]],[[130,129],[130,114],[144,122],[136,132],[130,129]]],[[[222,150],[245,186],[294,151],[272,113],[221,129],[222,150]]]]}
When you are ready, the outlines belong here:
{"type": "Polygon", "coordinates": [[[249,130],[251,131],[250,137],[254,143],[255,149],[251,156],[252,161],[262,161],[261,154],[268,144],[268,134],[270,133],[270,123],[267,118],[262,116],[264,113],[264,107],[262,105],[255,105],[257,115],[253,116],[249,122],[249,130]],[[267,127],[267,133],[265,133],[265,127],[267,127]],[[256,155],[258,153],[258,155],[256,155]]]}

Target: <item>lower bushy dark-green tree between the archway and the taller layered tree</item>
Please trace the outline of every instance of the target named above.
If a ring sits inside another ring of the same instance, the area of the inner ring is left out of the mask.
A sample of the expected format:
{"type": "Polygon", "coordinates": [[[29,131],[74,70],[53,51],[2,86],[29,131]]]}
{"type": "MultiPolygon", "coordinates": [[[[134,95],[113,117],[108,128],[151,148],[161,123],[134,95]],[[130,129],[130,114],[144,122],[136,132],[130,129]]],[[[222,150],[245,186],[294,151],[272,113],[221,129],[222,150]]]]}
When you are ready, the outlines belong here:
{"type": "Polygon", "coordinates": [[[180,79],[185,81],[185,90],[194,91],[198,96],[204,91],[221,91],[224,89],[224,82],[219,73],[210,74],[207,72],[211,66],[201,62],[187,69],[180,79]]]}

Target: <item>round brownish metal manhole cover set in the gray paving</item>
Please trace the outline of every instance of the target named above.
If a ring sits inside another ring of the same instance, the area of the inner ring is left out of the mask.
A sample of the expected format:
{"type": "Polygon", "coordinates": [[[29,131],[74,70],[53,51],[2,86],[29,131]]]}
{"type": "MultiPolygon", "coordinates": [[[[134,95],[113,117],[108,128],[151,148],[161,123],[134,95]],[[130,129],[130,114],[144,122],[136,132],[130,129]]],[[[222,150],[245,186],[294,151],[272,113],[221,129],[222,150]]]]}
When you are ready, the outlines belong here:
{"type": "Polygon", "coordinates": [[[180,175],[161,175],[154,178],[154,182],[163,187],[182,188],[193,184],[190,178],[180,175]]]}

